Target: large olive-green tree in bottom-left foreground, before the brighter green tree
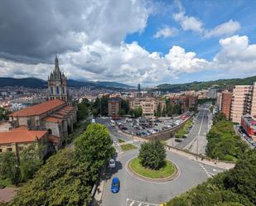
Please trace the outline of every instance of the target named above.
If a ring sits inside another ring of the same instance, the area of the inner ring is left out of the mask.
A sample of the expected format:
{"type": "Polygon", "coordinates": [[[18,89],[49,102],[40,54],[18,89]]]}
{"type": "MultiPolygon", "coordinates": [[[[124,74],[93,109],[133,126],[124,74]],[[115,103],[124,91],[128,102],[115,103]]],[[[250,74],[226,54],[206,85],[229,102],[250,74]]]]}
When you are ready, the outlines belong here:
{"type": "Polygon", "coordinates": [[[22,186],[12,206],[87,205],[92,185],[88,164],[80,165],[70,149],[61,150],[46,161],[33,180],[22,186]]]}

